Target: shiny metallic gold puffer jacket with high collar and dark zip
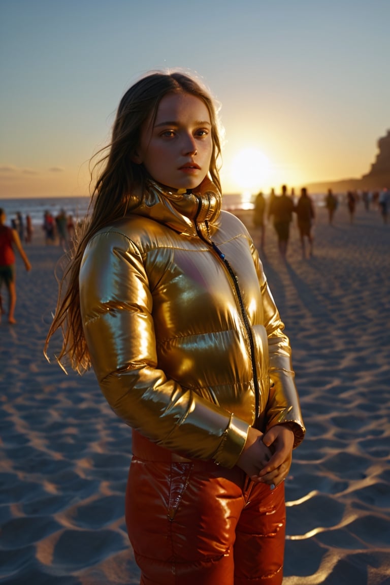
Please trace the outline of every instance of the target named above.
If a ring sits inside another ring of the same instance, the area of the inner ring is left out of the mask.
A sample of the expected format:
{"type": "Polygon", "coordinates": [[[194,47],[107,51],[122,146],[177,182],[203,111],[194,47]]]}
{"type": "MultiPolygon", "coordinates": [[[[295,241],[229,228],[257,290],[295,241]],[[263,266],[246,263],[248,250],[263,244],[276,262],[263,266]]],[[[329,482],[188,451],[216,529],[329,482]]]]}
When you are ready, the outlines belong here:
{"type": "Polygon", "coordinates": [[[249,426],[294,422],[291,350],[257,251],[221,196],[151,181],[88,243],[80,302],[92,366],[126,424],[175,453],[233,467],[249,426]]]}

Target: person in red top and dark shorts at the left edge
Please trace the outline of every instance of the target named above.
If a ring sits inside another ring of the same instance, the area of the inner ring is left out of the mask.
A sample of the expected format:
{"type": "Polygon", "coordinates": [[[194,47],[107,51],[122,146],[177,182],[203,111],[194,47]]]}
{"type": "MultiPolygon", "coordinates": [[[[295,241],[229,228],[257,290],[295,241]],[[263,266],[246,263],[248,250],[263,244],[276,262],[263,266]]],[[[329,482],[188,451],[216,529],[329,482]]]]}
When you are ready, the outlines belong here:
{"type": "MultiPolygon", "coordinates": [[[[16,229],[9,228],[5,225],[6,215],[4,209],[0,208],[0,288],[5,283],[8,290],[8,322],[16,323],[14,312],[16,304],[16,287],[15,287],[15,252],[13,246],[15,245],[26,270],[31,269],[31,264],[23,250],[20,242],[19,234],[16,229]]],[[[1,314],[0,314],[1,319],[1,314]]]]}

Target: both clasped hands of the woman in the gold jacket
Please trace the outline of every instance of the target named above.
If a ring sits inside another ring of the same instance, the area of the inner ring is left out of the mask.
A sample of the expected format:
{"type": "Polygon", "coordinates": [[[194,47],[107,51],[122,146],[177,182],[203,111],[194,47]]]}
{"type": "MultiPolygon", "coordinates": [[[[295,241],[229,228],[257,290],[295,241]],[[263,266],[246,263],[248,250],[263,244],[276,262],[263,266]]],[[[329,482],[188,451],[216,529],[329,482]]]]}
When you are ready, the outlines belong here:
{"type": "Polygon", "coordinates": [[[275,425],[266,433],[250,428],[237,465],[256,483],[278,486],[288,476],[294,433],[275,425]]]}

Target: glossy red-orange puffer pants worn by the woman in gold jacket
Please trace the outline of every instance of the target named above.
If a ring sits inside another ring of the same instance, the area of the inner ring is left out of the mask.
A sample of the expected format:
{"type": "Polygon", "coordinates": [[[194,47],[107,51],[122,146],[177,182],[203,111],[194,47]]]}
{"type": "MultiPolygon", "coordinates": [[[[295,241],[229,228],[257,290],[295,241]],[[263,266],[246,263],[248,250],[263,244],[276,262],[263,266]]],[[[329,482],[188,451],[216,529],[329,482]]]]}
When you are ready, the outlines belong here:
{"type": "Polygon", "coordinates": [[[140,585],[281,585],[284,484],[188,460],[133,431],[126,525],[140,585]]]}

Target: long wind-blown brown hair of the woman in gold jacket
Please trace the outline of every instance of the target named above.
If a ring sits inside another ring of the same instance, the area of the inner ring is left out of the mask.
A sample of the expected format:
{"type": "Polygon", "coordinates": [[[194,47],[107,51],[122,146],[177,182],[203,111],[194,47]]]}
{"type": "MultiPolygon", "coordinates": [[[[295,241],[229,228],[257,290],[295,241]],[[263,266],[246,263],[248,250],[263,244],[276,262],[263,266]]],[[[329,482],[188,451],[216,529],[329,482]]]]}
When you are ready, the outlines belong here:
{"type": "Polygon", "coordinates": [[[61,360],[65,359],[79,373],[91,366],[80,312],[78,277],[82,256],[91,237],[103,226],[129,213],[136,204],[134,195],[143,193],[147,178],[146,170],[142,164],[136,164],[132,159],[139,146],[144,123],[156,119],[161,98],[171,93],[194,95],[202,99],[208,108],[213,143],[209,176],[220,190],[219,123],[215,103],[209,92],[194,78],[179,71],[150,73],[141,78],[126,91],[120,101],[111,142],[91,159],[93,163],[97,158],[96,163],[91,165],[91,201],[87,216],[81,228],[77,229],[73,250],[68,257],[63,277],[58,279],[56,312],[44,345],[44,355],[47,357],[51,337],[58,330],[61,331],[62,347],[56,356],[61,367],[63,367],[61,360]]]}

